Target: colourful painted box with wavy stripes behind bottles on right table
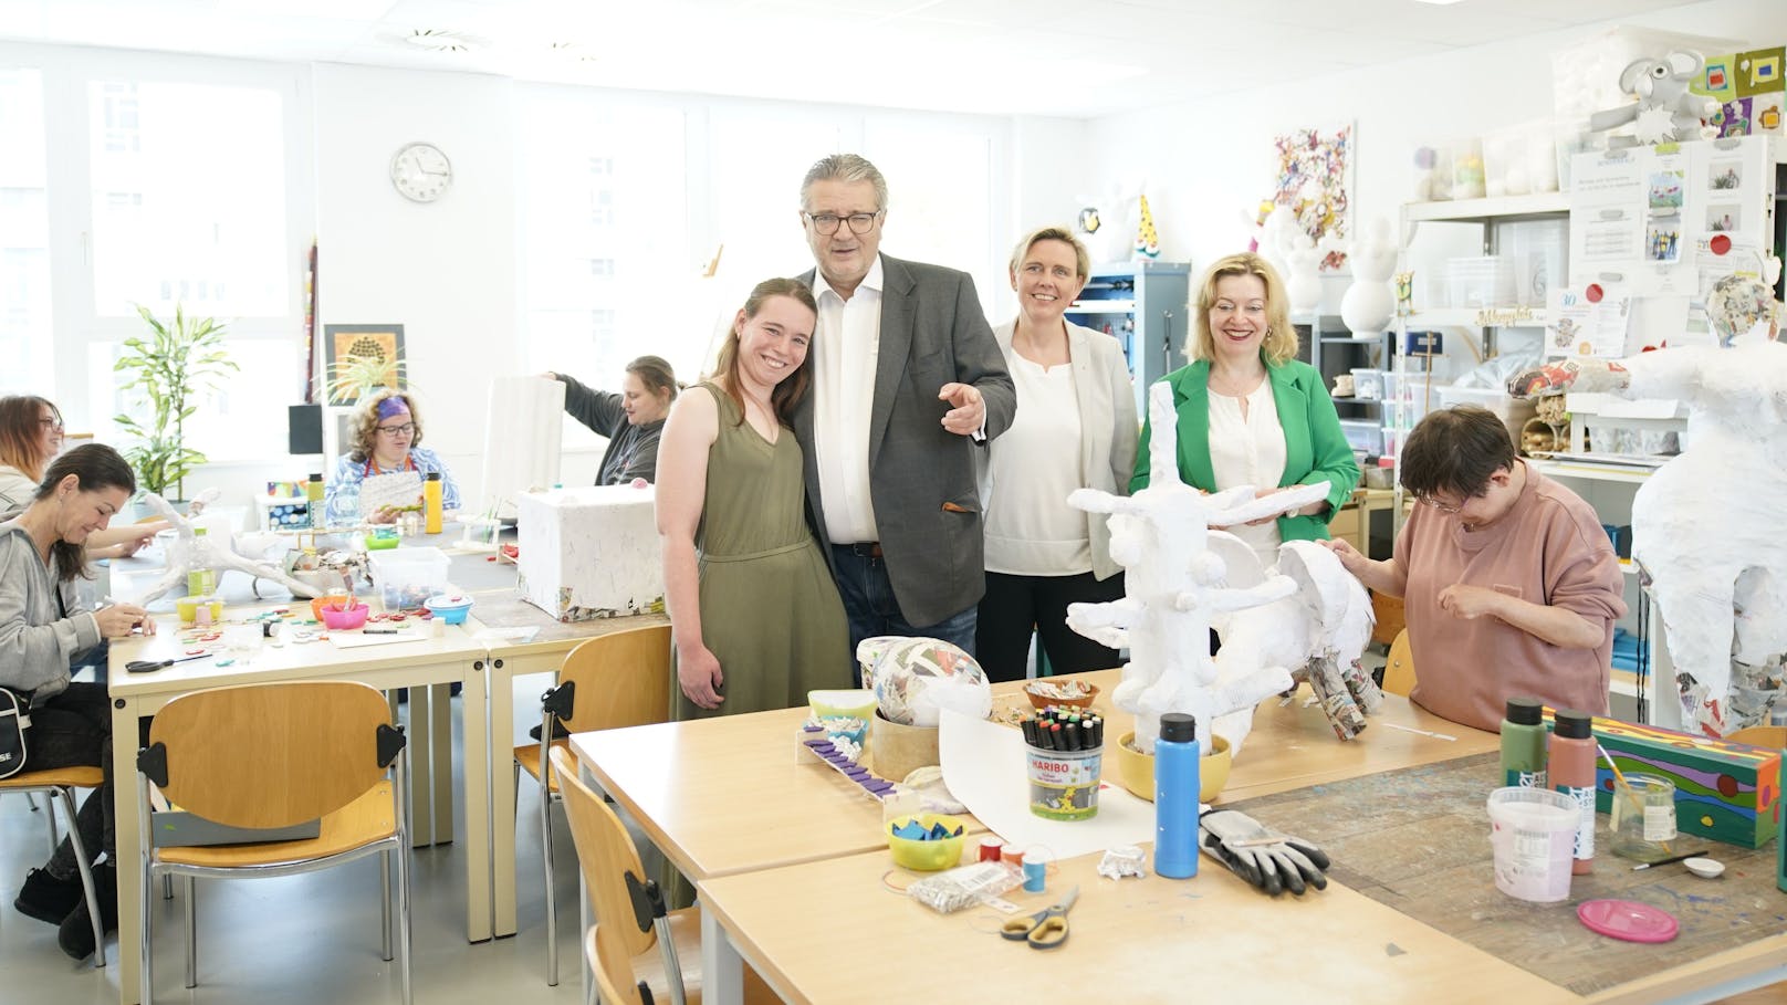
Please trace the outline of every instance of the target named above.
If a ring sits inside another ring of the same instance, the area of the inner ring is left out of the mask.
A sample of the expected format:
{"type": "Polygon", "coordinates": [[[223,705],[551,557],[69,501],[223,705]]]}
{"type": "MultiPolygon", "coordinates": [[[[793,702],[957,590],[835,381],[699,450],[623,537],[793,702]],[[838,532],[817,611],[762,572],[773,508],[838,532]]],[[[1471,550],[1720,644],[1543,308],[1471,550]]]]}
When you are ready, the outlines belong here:
{"type": "MultiPolygon", "coordinates": [[[[1546,708],[1546,726],[1551,710],[1546,708]]],[[[1594,717],[1594,739],[1628,776],[1667,778],[1676,787],[1676,830],[1762,848],[1780,824],[1782,751],[1733,744],[1658,726],[1594,717]]],[[[1614,773],[1596,762],[1596,812],[1614,803],[1614,773]]]]}

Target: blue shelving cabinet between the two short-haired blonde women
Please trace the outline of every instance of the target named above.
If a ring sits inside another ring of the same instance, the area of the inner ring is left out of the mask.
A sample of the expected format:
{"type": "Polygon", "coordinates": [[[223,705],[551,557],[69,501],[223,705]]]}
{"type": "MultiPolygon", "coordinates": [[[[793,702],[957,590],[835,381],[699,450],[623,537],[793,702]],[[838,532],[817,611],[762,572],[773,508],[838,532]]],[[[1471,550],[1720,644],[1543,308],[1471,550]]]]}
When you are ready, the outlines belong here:
{"type": "Polygon", "coordinates": [[[1067,320],[1122,343],[1138,413],[1147,408],[1147,386],[1185,365],[1190,281],[1187,261],[1095,265],[1067,308],[1067,320]]]}

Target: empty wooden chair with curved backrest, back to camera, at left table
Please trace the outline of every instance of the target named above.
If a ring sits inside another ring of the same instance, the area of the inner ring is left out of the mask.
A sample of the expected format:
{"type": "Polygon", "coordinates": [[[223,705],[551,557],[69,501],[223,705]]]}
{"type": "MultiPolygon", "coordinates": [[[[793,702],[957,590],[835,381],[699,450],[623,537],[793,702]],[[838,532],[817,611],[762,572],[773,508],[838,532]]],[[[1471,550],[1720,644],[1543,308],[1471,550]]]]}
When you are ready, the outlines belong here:
{"type": "MultiPolygon", "coordinates": [[[[354,681],[227,687],[170,701],[138,753],[143,891],[180,876],[186,891],[186,987],[197,980],[193,878],[289,876],[379,858],[382,957],[391,959],[391,901],[404,1005],[409,991],[409,828],[404,823],[404,733],[384,694],[354,681]],[[282,828],[322,821],[307,840],[155,848],[150,785],[207,821],[282,828]],[[391,885],[391,866],[397,883],[391,885]]],[[[141,1001],[152,1001],[150,910],[141,898],[141,1001]]]]}

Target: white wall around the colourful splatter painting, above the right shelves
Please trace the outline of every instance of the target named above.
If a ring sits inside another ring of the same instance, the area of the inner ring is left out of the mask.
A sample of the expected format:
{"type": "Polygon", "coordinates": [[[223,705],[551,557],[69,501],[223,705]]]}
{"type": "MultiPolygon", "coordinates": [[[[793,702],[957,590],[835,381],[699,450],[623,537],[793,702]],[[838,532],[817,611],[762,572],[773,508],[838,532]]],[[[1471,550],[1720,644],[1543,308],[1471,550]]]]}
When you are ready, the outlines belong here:
{"type": "MultiPolygon", "coordinates": [[[[1312,80],[1265,84],[1160,109],[1101,118],[1085,145],[1090,184],[1149,179],[1162,258],[1203,268],[1253,238],[1244,216],[1272,191],[1272,136],[1297,127],[1356,122],[1355,222],[1396,220],[1410,200],[1417,147],[1549,118],[1551,52],[1615,23],[1682,34],[1787,39],[1782,0],[1712,0],[1669,11],[1530,36],[1312,80]]],[[[1271,41],[1260,45],[1262,68],[1271,41]]],[[[1465,252],[1469,254],[1469,252],[1465,252]]],[[[1338,309],[1346,283],[1330,283],[1324,309],[1338,309]]]]}

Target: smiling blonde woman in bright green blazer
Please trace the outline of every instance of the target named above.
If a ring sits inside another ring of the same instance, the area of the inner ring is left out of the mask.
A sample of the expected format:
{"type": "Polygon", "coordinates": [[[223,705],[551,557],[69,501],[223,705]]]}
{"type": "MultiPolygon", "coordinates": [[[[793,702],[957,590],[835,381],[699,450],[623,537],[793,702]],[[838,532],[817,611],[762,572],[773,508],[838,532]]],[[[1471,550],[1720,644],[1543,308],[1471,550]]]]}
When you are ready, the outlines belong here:
{"type": "MultiPolygon", "coordinates": [[[[1197,291],[1192,365],[1167,374],[1178,411],[1179,477],[1204,492],[1254,485],[1260,495],[1328,485],[1328,497],[1294,513],[1229,528],[1262,563],[1287,540],[1322,540],[1335,508],[1358,485],[1358,461],[1319,372],[1296,359],[1285,286],[1256,254],[1233,254],[1197,291]]],[[[1149,417],[1153,420],[1153,417],[1149,417]]],[[[1147,486],[1144,424],[1129,490],[1147,486]]]]}

